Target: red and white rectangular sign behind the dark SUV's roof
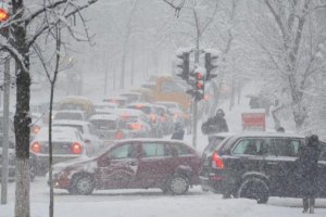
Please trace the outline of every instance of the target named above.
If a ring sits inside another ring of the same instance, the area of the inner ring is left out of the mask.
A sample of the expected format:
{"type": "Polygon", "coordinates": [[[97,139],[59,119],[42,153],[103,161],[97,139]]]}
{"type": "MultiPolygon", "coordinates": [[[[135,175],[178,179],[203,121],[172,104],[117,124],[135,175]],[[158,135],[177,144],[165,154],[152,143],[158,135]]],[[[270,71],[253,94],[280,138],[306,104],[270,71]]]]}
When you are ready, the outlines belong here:
{"type": "Polygon", "coordinates": [[[242,113],[242,129],[247,131],[265,131],[265,113],[242,113]]]}

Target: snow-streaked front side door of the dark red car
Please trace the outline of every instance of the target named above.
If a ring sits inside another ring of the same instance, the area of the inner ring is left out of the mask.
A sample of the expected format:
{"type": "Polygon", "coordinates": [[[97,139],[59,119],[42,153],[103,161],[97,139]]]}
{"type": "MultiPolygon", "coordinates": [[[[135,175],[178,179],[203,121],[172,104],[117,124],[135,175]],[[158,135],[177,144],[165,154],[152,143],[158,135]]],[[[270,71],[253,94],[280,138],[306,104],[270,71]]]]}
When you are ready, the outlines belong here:
{"type": "Polygon", "coordinates": [[[138,170],[137,143],[118,143],[98,159],[97,179],[101,189],[133,187],[138,170]]]}

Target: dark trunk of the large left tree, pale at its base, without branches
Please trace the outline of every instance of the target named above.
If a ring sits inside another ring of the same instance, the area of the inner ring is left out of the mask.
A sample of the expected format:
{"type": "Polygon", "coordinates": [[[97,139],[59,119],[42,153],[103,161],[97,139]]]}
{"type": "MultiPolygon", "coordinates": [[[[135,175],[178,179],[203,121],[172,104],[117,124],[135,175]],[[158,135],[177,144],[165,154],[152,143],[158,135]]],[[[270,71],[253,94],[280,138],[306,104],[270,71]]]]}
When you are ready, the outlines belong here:
{"type": "MultiPolygon", "coordinates": [[[[13,14],[20,20],[24,16],[23,1],[12,1],[13,14]]],[[[15,190],[15,217],[29,217],[29,49],[26,42],[26,26],[12,25],[13,44],[21,56],[16,72],[16,111],[14,128],[16,139],[16,190],[15,190]]],[[[17,58],[17,56],[15,56],[17,58]]]]}

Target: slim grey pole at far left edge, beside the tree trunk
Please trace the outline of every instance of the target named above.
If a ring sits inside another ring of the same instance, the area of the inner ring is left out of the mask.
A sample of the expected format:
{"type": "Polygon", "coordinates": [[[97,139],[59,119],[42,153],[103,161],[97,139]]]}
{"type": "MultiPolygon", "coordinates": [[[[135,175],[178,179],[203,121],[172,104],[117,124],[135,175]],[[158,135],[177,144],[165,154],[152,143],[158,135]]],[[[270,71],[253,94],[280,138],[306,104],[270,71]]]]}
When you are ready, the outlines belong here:
{"type": "Polygon", "coordinates": [[[2,175],[1,175],[1,204],[7,204],[8,167],[9,167],[9,94],[10,94],[10,59],[4,62],[3,79],[3,145],[2,145],[2,175]]]}

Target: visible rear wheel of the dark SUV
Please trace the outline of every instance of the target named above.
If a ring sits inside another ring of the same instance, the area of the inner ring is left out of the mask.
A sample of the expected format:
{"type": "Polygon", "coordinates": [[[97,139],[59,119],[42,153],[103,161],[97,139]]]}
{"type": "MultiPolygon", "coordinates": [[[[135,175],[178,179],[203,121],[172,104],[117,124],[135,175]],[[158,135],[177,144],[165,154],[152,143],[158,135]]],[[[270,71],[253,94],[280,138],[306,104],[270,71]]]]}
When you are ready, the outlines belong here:
{"type": "Polygon", "coordinates": [[[268,186],[259,178],[246,179],[238,189],[237,197],[254,199],[259,204],[267,203],[268,186]]]}

